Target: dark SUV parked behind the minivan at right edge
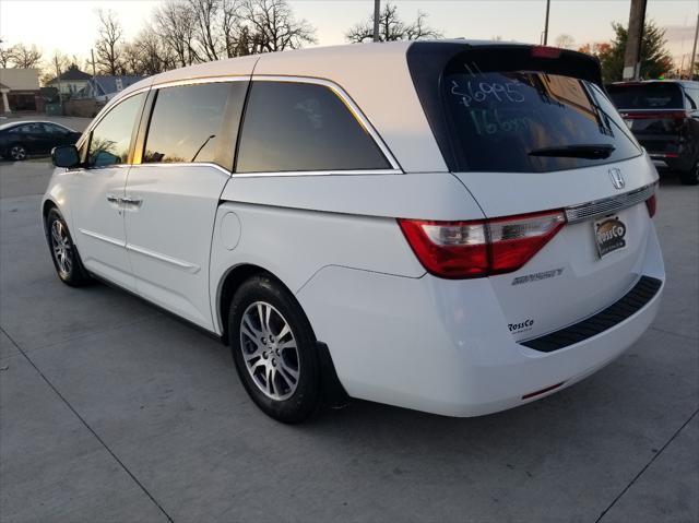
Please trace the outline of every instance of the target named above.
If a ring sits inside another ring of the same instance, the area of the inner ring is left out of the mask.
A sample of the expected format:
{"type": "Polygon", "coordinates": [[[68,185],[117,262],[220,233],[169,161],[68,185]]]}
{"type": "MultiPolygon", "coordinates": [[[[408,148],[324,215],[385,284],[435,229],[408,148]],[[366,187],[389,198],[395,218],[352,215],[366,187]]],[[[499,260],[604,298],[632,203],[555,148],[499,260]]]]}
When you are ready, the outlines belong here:
{"type": "Polygon", "coordinates": [[[607,93],[656,166],[699,183],[699,82],[618,82],[607,93]]]}

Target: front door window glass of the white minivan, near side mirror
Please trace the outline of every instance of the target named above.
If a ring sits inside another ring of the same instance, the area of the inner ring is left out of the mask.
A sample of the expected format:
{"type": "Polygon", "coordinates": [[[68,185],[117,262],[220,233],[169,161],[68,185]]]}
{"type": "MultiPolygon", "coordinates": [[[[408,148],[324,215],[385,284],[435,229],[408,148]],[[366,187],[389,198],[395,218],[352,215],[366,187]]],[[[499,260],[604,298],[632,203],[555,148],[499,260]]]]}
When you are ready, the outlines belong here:
{"type": "Polygon", "coordinates": [[[128,162],[131,134],[144,98],[145,93],[127,98],[97,123],[90,139],[88,166],[105,167],[128,162]]]}

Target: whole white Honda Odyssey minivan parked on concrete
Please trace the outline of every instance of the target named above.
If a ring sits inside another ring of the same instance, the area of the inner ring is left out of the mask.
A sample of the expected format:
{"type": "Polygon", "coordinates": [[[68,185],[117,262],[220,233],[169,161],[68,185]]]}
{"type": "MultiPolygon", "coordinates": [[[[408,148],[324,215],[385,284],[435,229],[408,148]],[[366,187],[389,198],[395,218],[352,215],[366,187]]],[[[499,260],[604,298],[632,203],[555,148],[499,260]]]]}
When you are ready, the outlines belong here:
{"type": "Polygon", "coordinates": [[[356,397],[450,416],[602,368],[665,280],[657,174],[594,58],[491,41],[250,56],[125,90],[54,150],[59,277],[230,345],[297,423],[356,397]]]}

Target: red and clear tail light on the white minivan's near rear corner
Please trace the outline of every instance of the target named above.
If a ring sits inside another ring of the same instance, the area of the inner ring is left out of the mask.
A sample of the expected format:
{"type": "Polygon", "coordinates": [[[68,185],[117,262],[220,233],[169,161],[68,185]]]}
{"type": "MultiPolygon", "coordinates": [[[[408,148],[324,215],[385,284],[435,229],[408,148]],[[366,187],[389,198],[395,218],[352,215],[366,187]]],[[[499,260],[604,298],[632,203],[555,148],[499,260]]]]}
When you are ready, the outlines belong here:
{"type": "Polygon", "coordinates": [[[562,211],[475,222],[398,221],[423,266],[446,278],[517,271],[566,224],[562,211]]]}

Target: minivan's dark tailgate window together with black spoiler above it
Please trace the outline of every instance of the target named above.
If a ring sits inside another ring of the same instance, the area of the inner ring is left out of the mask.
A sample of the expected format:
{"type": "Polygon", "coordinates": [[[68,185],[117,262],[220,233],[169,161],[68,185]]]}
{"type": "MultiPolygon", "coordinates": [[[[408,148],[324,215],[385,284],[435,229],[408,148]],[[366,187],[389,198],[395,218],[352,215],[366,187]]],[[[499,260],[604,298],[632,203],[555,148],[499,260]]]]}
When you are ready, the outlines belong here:
{"type": "Polygon", "coordinates": [[[452,171],[548,173],[641,147],[588,55],[521,44],[416,43],[411,76],[452,171]]]}

